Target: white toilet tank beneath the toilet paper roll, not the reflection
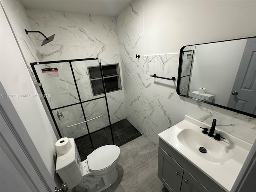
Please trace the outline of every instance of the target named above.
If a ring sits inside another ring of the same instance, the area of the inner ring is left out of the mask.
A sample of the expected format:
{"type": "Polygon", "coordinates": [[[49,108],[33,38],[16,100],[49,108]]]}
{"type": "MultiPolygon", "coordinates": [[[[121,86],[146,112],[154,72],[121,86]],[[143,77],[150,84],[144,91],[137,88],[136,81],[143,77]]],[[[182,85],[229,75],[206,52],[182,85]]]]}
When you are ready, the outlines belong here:
{"type": "Polygon", "coordinates": [[[80,169],[80,155],[78,153],[74,138],[69,138],[72,148],[66,154],[58,154],[56,160],[56,173],[64,183],[68,185],[68,188],[74,188],[83,179],[80,169]]]}

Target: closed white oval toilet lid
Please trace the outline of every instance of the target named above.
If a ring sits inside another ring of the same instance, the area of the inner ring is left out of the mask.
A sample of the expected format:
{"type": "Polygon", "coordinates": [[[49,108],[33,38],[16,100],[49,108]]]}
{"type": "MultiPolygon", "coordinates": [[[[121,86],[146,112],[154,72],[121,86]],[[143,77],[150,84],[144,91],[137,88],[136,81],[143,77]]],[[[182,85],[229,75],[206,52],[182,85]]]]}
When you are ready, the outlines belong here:
{"type": "Polygon", "coordinates": [[[94,150],[87,156],[90,170],[98,171],[113,164],[120,155],[120,148],[116,145],[105,145],[94,150]]]}

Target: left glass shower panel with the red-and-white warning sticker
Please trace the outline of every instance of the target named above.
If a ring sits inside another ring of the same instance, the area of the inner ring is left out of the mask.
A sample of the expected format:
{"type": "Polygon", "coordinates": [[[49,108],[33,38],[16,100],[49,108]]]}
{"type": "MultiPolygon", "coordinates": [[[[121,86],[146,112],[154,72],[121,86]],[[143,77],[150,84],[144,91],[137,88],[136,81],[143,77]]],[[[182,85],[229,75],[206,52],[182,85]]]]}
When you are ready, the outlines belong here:
{"type": "Polygon", "coordinates": [[[66,128],[66,125],[85,121],[70,63],[38,64],[34,68],[61,136],[76,138],[82,135],[83,124],[66,128]]]}

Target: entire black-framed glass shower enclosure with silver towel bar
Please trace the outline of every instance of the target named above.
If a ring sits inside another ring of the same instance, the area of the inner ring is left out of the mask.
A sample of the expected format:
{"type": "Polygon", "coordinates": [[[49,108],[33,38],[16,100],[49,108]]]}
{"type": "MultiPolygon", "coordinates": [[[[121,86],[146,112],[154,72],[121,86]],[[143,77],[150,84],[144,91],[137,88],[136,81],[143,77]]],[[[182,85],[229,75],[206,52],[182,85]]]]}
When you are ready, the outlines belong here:
{"type": "Polygon", "coordinates": [[[60,138],[89,136],[94,150],[91,133],[110,127],[114,144],[100,58],[33,62],[30,65],[60,138]],[[96,64],[100,67],[98,78],[102,79],[97,86],[104,93],[93,96],[90,81],[86,82],[86,68],[96,64]],[[98,118],[101,121],[94,121],[98,118]]]}

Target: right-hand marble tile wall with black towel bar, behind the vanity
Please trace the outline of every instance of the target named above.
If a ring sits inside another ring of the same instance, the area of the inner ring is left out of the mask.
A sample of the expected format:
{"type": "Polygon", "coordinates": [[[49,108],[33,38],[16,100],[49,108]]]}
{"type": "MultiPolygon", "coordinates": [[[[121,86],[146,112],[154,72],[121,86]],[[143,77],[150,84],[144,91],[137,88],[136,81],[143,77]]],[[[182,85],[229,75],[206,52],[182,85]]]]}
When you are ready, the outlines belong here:
{"type": "Polygon", "coordinates": [[[184,120],[185,115],[209,125],[216,118],[218,129],[253,143],[255,118],[183,98],[176,93],[176,82],[150,77],[177,78],[179,54],[143,56],[143,3],[132,2],[117,18],[127,119],[156,146],[158,133],[184,120]]]}

